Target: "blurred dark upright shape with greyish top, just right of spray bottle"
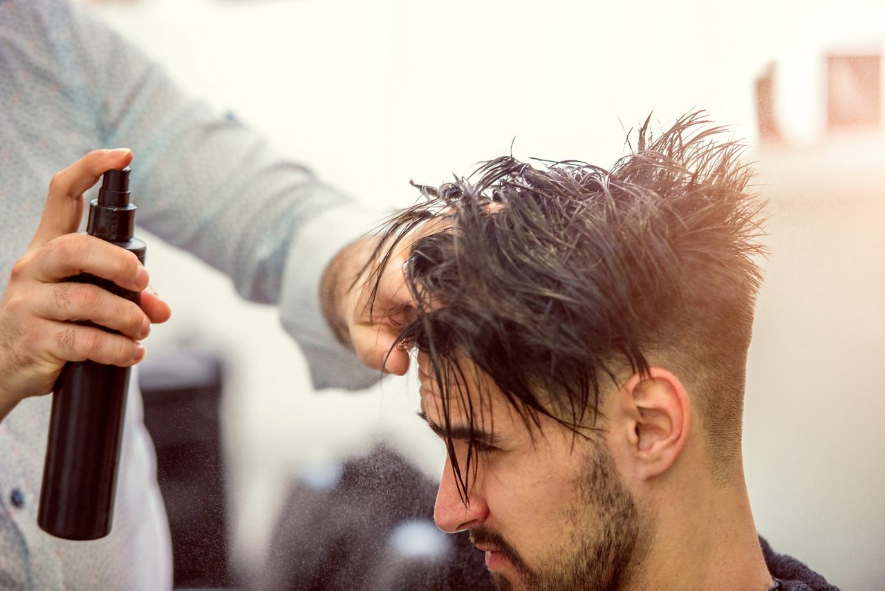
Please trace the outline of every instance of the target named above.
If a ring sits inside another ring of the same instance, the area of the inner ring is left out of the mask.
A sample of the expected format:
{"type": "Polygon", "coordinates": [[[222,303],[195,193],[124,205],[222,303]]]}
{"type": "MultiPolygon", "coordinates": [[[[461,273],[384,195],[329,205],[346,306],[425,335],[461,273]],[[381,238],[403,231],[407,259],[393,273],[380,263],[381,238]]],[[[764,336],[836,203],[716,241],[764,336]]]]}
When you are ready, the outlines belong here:
{"type": "Polygon", "coordinates": [[[219,406],[222,362],[170,349],[140,366],[144,424],[172,532],[174,587],[227,587],[227,497],[219,406]]]}

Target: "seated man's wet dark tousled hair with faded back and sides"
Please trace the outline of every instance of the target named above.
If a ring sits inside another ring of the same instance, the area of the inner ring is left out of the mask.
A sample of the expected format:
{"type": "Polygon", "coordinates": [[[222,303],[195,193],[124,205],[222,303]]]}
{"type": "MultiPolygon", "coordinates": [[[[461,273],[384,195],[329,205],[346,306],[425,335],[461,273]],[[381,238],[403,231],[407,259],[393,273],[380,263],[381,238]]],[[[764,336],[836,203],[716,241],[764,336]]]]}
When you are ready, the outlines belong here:
{"type": "MultiPolygon", "coordinates": [[[[646,119],[637,149],[608,170],[508,156],[419,187],[422,202],[385,227],[370,280],[377,289],[424,228],[405,267],[417,316],[399,346],[427,354],[443,429],[452,404],[471,432],[484,420],[483,393],[466,391],[476,371],[527,426],[544,415],[589,436],[600,395],[652,358],[689,388],[714,468],[739,464],[762,203],[747,192],[743,144],[725,135],[702,112],[657,138],[646,119]]],[[[447,447],[466,499],[475,445],[463,464],[447,447]]]]}

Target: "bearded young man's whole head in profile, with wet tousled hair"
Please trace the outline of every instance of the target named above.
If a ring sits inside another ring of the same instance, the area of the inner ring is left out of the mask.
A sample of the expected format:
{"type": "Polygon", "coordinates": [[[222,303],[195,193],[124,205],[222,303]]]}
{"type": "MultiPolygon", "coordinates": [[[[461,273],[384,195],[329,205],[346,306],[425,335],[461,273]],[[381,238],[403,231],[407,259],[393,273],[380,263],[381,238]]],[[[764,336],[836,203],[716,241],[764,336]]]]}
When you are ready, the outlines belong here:
{"type": "Polygon", "coordinates": [[[646,122],[610,170],[501,157],[388,228],[382,269],[419,235],[401,342],[449,452],[436,521],[502,587],[616,588],[674,491],[743,486],[760,204],[721,133],[646,122]]]}

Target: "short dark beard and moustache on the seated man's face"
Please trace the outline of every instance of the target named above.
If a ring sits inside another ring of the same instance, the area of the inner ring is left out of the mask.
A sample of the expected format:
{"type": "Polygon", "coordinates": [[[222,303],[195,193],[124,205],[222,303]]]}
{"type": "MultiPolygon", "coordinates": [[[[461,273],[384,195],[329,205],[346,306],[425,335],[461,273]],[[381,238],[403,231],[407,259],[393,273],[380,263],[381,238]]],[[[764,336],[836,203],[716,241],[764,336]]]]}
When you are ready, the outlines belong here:
{"type": "Polygon", "coordinates": [[[536,564],[544,564],[542,568],[530,568],[499,533],[485,527],[471,531],[474,544],[500,549],[519,572],[518,582],[492,572],[498,589],[616,591],[626,584],[638,561],[639,512],[608,450],[595,447],[588,455],[587,470],[576,479],[575,503],[566,511],[573,532],[551,545],[545,556],[535,557],[536,564]]]}

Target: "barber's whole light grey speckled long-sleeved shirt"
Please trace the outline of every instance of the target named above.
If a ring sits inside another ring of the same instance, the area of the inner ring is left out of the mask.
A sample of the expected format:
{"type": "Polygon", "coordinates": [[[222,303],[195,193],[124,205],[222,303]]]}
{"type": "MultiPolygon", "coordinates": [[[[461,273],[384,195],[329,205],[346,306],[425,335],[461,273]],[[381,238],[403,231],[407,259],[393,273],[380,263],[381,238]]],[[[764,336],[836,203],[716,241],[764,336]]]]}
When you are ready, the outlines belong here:
{"type": "MultiPolygon", "coordinates": [[[[318,282],[377,212],[182,96],[157,65],[80,9],[0,0],[0,290],[34,234],[52,174],[89,150],[116,147],[137,158],[139,224],[227,273],[243,296],[280,303],[317,387],[376,378],[335,343],[318,282]]],[[[170,587],[141,395],[129,395],[114,526],[100,541],[58,540],[36,524],[49,413],[42,396],[0,423],[0,589],[170,587]]]]}

